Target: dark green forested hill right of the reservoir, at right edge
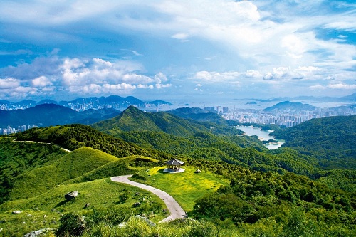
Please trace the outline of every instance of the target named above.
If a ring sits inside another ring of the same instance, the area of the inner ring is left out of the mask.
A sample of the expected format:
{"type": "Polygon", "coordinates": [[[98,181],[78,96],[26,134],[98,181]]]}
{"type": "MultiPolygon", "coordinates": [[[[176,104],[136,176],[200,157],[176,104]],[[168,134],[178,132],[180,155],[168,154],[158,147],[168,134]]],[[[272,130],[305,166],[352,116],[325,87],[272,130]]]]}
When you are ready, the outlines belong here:
{"type": "Polygon", "coordinates": [[[356,115],[308,120],[272,132],[290,147],[318,159],[324,169],[356,169],[356,115]]]}

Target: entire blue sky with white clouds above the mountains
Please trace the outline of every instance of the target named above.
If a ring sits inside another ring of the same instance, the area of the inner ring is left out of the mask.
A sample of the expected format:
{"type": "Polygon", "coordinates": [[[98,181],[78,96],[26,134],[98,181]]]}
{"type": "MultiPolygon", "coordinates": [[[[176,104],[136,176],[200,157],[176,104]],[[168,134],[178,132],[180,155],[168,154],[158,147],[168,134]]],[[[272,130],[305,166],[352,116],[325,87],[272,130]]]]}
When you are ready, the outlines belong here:
{"type": "Polygon", "coordinates": [[[355,92],[353,0],[0,1],[0,100],[355,92]]]}

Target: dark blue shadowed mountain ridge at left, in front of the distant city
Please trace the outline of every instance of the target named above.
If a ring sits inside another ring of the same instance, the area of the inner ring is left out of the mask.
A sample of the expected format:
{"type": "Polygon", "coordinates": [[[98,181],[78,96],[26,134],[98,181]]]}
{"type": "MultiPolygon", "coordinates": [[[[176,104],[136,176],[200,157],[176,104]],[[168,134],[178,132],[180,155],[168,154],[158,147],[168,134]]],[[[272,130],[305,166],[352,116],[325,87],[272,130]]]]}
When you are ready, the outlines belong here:
{"type": "Polygon", "coordinates": [[[120,111],[115,109],[90,109],[77,112],[61,105],[43,104],[25,110],[0,110],[0,127],[4,128],[8,125],[11,125],[11,127],[19,125],[40,125],[44,127],[71,123],[89,125],[119,114],[120,111]]]}

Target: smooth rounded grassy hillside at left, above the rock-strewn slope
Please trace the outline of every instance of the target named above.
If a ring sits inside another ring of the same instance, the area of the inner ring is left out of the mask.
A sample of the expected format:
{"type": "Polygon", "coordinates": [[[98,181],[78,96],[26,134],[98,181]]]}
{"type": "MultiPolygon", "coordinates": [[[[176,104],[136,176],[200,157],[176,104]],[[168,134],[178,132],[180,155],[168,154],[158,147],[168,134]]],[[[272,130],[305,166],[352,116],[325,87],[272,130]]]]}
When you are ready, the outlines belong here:
{"type": "Polygon", "coordinates": [[[76,149],[53,164],[24,172],[16,177],[10,199],[26,199],[38,196],[64,181],[80,177],[115,160],[117,160],[116,157],[93,148],[76,149]]]}

